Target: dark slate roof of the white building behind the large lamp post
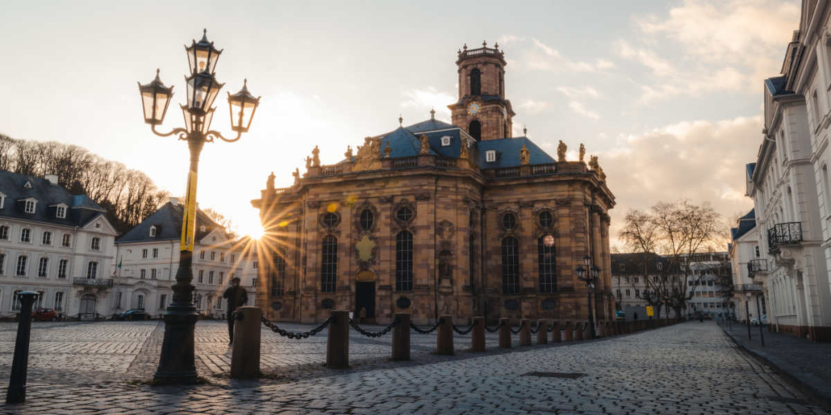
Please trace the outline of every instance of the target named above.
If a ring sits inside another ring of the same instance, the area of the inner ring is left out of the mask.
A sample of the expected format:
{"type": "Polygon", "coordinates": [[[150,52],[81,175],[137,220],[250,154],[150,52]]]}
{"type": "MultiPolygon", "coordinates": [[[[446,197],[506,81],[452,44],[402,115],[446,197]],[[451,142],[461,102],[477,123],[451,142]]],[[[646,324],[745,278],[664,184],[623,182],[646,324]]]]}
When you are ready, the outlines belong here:
{"type": "MultiPolygon", "coordinates": [[[[152,215],[141,221],[136,227],[120,237],[116,243],[122,242],[153,242],[153,241],[167,241],[179,240],[182,237],[182,217],[184,217],[184,207],[181,205],[174,205],[173,203],[165,203],[164,206],[153,212],[152,215]],[[156,227],[156,236],[150,237],[150,227],[156,227]]],[[[199,209],[196,209],[196,241],[208,236],[214,229],[224,228],[220,227],[216,222],[212,221],[208,215],[204,214],[199,209]],[[205,227],[204,232],[199,231],[200,227],[205,227]]]]}

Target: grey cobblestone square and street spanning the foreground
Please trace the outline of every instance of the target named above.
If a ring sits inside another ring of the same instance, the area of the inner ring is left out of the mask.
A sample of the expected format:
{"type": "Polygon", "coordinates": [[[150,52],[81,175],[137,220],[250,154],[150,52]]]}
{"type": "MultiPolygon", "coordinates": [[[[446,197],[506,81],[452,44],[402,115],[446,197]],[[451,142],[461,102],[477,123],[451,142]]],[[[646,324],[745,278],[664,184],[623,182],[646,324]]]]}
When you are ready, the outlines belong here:
{"type": "MultiPolygon", "coordinates": [[[[3,380],[14,335],[8,327],[0,325],[3,380]]],[[[455,356],[430,354],[435,335],[414,333],[411,362],[386,360],[389,335],[353,333],[352,369],[344,370],[322,367],[325,330],[302,340],[264,331],[268,376],[235,380],[221,374],[229,364],[226,326],[206,321],[196,326],[197,364],[209,384],[189,387],[127,383],[152,377],[163,333],[158,322],[34,327],[27,403],[0,404],[0,413],[827,413],[710,322],[568,344],[515,342],[513,349],[496,349],[495,334],[488,334],[485,353],[466,352],[470,336],[456,335],[455,356]]]]}

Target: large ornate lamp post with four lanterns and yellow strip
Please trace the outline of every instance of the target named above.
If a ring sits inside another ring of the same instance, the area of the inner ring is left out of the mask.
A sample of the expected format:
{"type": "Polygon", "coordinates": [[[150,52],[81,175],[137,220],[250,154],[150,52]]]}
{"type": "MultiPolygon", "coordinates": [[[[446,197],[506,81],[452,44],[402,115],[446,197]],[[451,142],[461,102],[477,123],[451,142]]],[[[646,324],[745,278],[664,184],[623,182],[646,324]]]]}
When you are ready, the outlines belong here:
{"type": "Polygon", "coordinates": [[[188,142],[190,149],[190,168],[188,174],[187,193],[184,196],[184,215],[182,219],[182,237],[179,245],[179,270],[176,271],[176,283],[173,289],[173,302],[165,312],[165,339],[162,343],[159,367],[156,369],[154,380],[161,383],[196,383],[196,366],[194,364],[194,325],[199,316],[193,301],[196,289],[193,282],[194,275],[191,269],[193,264],[194,229],[196,227],[196,179],[199,171],[199,154],[205,143],[213,143],[214,139],[233,143],[237,141],[251,125],[254,111],[259,105],[259,97],[254,98],[248,92],[248,80],[243,81],[243,89],[238,93],[228,94],[228,103],[231,111],[231,130],[237,133],[236,138],[226,139],[219,131],[210,129],[214,117],[216,95],[224,84],[216,81],[214,76],[216,63],[219,61],[221,50],[209,42],[207,29],[202,40],[193,41],[191,46],[185,46],[188,53],[190,76],[185,77],[187,83],[188,103],[181,105],[184,115],[185,128],[175,128],[169,133],[156,131],[156,125],[165,120],[167,107],[173,97],[173,86],[165,86],[156,70],[155,80],[147,85],[139,83],[141,103],[145,114],[145,123],[150,125],[154,134],[168,137],[178,134],[179,139],[188,142]]]}

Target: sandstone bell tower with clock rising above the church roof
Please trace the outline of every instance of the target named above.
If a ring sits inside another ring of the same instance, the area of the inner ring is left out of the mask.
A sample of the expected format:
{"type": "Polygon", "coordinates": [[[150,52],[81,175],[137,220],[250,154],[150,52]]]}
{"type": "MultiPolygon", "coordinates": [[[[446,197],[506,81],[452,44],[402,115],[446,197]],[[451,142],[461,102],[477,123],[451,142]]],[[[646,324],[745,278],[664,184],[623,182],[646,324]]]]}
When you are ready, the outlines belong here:
{"type": "Polygon", "coordinates": [[[503,139],[511,136],[514,110],[505,99],[504,51],[482,42],[479,49],[459,50],[459,101],[447,105],[453,124],[475,139],[503,139]]]}

